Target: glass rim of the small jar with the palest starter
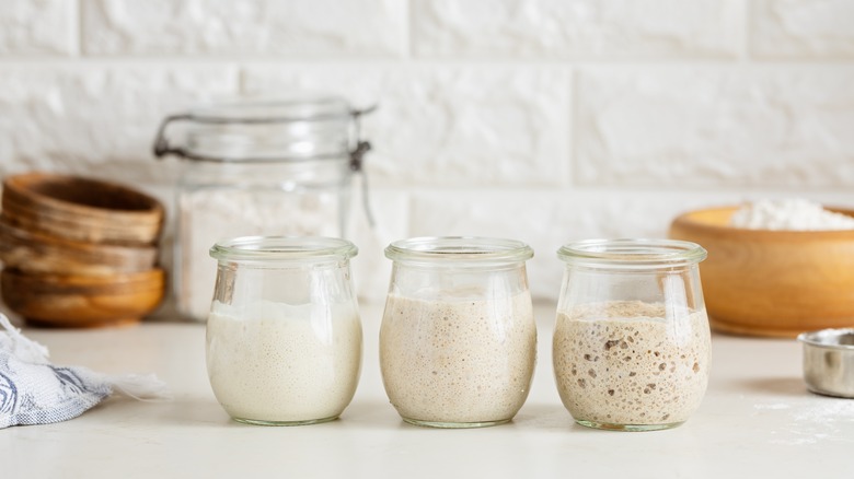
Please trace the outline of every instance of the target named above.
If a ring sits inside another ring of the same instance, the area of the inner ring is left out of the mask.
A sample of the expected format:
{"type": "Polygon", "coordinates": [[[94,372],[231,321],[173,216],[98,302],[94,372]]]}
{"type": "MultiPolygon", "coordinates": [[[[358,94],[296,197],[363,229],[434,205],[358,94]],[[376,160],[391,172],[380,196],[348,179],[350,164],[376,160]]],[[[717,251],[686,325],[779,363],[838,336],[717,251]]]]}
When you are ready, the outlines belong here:
{"type": "Polygon", "coordinates": [[[218,242],[210,256],[220,261],[345,260],[359,252],[347,240],[326,236],[240,236],[218,242]]]}

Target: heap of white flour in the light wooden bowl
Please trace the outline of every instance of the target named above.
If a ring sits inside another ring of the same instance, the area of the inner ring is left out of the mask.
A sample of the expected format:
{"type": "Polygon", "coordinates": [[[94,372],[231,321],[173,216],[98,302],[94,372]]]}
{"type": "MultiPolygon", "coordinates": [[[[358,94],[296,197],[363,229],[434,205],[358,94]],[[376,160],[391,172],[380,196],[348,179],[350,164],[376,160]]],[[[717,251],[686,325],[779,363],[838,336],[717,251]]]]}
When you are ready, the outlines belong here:
{"type": "Polygon", "coordinates": [[[729,224],[748,230],[854,230],[854,218],[805,199],[760,200],[741,207],[729,224]]]}

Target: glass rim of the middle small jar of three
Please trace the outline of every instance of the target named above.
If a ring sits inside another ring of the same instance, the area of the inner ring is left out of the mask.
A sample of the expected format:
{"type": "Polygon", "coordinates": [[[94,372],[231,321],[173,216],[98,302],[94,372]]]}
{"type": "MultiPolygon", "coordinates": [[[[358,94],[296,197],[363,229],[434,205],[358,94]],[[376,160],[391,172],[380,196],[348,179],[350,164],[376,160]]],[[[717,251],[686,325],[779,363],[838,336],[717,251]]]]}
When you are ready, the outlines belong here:
{"type": "Polygon", "coordinates": [[[482,236],[419,236],[393,242],[385,257],[399,261],[519,262],[533,257],[533,249],[516,240],[482,236]]]}

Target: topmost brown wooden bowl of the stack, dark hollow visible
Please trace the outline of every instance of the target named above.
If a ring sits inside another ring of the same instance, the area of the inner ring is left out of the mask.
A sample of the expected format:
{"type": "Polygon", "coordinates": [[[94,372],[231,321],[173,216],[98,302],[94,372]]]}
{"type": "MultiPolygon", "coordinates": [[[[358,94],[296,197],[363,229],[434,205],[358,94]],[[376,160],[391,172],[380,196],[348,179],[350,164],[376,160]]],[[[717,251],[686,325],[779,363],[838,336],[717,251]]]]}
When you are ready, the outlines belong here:
{"type": "Polygon", "coordinates": [[[2,218],[22,230],[59,238],[151,245],[163,225],[163,206],[115,183],[48,173],[3,182],[2,218]]]}

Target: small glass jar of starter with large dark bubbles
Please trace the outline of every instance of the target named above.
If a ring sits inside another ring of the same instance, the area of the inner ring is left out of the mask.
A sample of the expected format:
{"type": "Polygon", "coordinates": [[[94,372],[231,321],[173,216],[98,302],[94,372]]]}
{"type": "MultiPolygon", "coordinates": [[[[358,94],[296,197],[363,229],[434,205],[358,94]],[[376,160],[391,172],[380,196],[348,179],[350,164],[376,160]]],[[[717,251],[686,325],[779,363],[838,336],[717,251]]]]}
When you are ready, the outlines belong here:
{"type": "Polygon", "coordinates": [[[595,240],[557,255],[566,270],[552,358],[576,422],[623,431],[684,422],[708,383],[697,267],[706,250],[670,240],[595,240]]]}

